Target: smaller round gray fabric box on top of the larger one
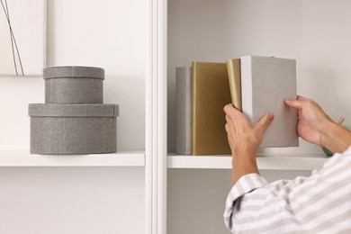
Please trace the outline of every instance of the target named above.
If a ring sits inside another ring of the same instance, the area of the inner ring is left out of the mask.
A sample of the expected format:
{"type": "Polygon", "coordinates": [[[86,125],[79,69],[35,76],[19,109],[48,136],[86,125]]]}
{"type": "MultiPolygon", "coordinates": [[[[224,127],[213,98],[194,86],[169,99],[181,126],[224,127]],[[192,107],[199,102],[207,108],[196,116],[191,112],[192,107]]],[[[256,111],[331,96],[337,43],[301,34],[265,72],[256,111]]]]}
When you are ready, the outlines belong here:
{"type": "Polygon", "coordinates": [[[45,103],[103,103],[103,68],[47,67],[43,77],[45,103]]]}

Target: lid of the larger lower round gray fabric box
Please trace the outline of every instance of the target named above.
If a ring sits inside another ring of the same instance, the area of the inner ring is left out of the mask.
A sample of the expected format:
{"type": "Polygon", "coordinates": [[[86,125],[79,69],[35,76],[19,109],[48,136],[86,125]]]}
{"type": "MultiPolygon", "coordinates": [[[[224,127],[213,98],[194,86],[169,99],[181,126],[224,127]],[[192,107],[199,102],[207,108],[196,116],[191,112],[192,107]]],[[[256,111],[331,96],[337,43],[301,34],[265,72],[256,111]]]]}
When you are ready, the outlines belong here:
{"type": "Polygon", "coordinates": [[[117,104],[56,104],[31,103],[28,106],[31,117],[116,117],[117,104]]]}

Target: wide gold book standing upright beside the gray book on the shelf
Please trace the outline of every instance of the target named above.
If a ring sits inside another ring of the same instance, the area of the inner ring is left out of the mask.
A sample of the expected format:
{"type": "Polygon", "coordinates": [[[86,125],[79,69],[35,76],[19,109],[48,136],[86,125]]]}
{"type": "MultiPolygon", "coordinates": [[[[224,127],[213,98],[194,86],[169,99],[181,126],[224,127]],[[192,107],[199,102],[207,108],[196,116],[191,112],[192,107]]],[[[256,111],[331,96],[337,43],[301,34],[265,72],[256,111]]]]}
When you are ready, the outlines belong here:
{"type": "Polygon", "coordinates": [[[192,155],[230,154],[224,105],[230,103],[226,63],[192,64],[192,155]]]}

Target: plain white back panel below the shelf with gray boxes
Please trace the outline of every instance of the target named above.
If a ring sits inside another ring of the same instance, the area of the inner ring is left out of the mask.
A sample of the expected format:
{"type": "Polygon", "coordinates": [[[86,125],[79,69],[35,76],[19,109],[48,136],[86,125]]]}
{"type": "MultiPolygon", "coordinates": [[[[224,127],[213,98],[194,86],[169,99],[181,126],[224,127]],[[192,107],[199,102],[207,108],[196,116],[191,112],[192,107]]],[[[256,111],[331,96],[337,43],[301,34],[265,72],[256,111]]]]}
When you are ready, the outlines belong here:
{"type": "Polygon", "coordinates": [[[143,175],[142,167],[2,167],[0,233],[143,233],[143,175]]]}

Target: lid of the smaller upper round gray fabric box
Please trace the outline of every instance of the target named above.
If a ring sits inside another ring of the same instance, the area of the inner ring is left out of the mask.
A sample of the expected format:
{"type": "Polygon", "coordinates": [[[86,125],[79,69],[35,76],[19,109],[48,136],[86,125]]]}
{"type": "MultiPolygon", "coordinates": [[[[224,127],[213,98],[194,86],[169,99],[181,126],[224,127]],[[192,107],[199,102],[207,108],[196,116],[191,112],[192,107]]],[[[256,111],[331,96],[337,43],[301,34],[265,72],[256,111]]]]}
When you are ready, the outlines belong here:
{"type": "Polygon", "coordinates": [[[104,79],[104,70],[101,67],[46,67],[43,69],[43,77],[44,79],[57,77],[104,79]]]}

